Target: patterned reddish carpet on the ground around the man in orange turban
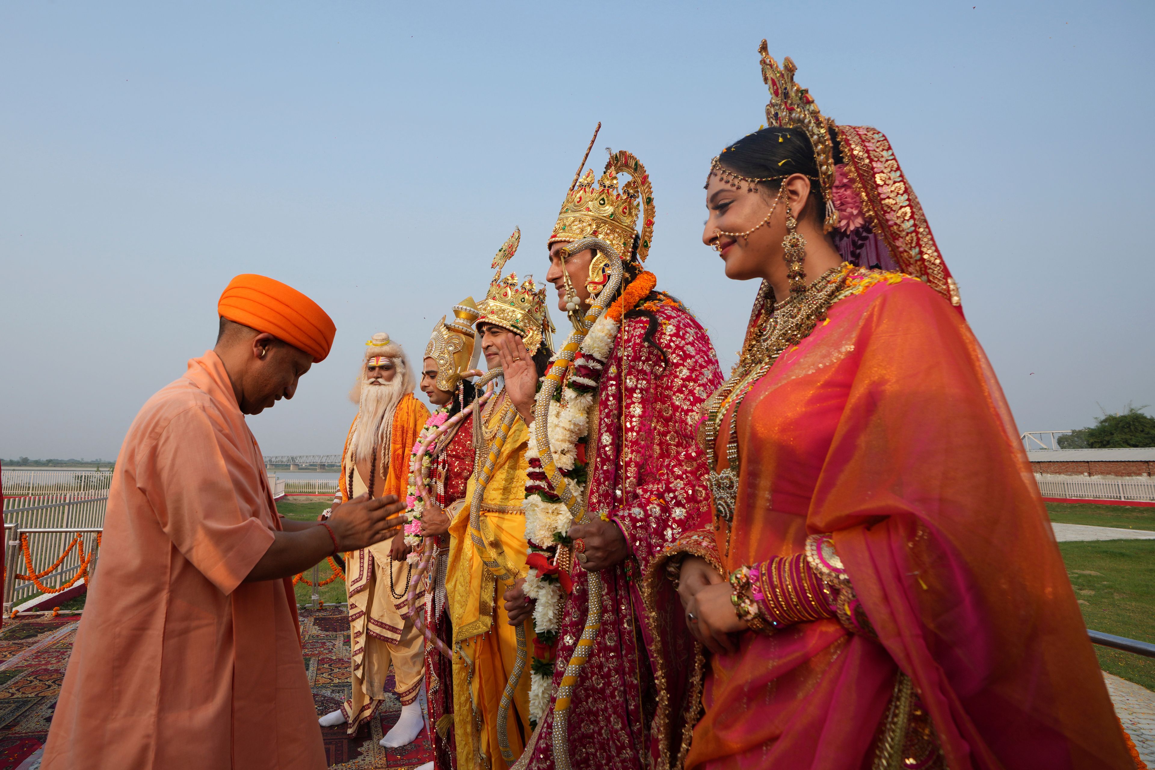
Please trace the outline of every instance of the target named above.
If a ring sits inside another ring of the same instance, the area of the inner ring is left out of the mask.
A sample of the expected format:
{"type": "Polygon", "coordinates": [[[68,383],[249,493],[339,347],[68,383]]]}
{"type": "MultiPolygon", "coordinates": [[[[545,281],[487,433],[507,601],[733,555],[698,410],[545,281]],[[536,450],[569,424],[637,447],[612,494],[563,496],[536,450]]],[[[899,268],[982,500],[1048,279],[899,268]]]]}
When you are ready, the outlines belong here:
{"type": "MultiPolygon", "coordinates": [[[[0,770],[36,770],[60,694],[79,615],[5,619],[0,630],[0,770]]],[[[305,665],[318,713],[336,709],[349,694],[349,620],[344,608],[300,611],[305,665]]],[[[393,674],[389,674],[389,687],[393,674]]],[[[378,717],[353,738],[322,728],[329,765],[341,770],[410,770],[433,758],[425,732],[396,749],[378,741],[401,713],[390,696],[378,717]]]]}

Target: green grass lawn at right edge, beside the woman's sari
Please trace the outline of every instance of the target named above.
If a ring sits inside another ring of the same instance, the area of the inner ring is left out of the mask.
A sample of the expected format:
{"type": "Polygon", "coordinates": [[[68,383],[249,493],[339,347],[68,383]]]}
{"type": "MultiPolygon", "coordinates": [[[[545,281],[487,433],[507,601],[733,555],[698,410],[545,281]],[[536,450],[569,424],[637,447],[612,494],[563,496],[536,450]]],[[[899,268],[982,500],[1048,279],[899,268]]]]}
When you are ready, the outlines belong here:
{"type": "MultiPolygon", "coordinates": [[[[1155,508],[1049,502],[1052,522],[1155,531],[1155,508]]],[[[1155,540],[1060,543],[1087,628],[1155,642],[1155,540]]],[[[1155,689],[1155,658],[1095,645],[1104,671],[1155,689]]]]}

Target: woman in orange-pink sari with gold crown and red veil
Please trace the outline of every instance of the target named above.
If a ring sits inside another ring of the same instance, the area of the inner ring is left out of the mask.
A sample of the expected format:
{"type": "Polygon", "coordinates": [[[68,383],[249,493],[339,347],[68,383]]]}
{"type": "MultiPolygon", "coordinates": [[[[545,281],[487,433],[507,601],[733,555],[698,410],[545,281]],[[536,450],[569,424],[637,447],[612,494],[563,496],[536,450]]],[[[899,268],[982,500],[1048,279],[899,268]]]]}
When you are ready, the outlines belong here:
{"type": "MultiPolygon", "coordinates": [[[[762,278],[665,552],[709,650],[687,768],[1133,768],[999,388],[886,137],[766,53],[703,240],[762,278]]],[[[692,730],[692,735],[690,734],[692,730]]],[[[692,739],[692,740],[691,740],[692,739]]]]}

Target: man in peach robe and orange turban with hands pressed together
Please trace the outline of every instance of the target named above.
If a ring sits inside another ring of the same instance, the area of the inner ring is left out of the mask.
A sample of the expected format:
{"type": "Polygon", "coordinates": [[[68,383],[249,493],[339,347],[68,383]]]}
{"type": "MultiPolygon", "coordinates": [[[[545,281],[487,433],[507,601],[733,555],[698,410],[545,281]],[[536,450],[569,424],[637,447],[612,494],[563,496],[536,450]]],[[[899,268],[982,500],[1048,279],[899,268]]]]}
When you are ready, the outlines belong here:
{"type": "Polygon", "coordinates": [[[336,331],[293,289],[237,276],[216,347],[141,409],[117,458],[44,770],[321,770],[291,576],[393,537],[403,503],[281,522],[245,424],[336,331]]]}

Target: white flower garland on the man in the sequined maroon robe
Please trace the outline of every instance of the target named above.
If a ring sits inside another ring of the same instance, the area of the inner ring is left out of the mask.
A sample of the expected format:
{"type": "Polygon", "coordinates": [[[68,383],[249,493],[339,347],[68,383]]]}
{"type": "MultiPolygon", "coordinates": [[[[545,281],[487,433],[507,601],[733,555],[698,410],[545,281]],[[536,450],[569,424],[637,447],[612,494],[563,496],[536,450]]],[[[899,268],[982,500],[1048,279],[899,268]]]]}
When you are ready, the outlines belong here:
{"type": "MultiPolygon", "coordinates": [[[[619,324],[604,314],[599,317],[582,341],[579,360],[593,369],[598,377],[613,347],[619,324]]],[[[575,361],[576,365],[576,361],[575,361]]],[[[578,393],[569,386],[582,384],[596,388],[594,380],[571,374],[562,391],[561,403],[551,402],[546,435],[550,440],[550,451],[559,470],[572,471],[578,461],[578,442],[589,434],[589,416],[594,406],[596,393],[578,393]]],[[[596,448],[587,447],[587,451],[596,448]]],[[[531,442],[526,453],[527,459],[541,459],[537,447],[531,442]]],[[[574,494],[581,496],[584,489],[576,481],[571,481],[574,494]]],[[[526,538],[530,552],[547,552],[569,531],[573,516],[564,502],[549,502],[537,493],[538,484],[530,479],[526,487],[527,495],[522,510],[526,513],[526,538]]],[[[538,635],[556,633],[561,623],[562,596],[561,585],[557,581],[542,580],[537,570],[530,568],[522,586],[526,596],[536,599],[534,607],[534,631],[538,635]]],[[[553,678],[534,671],[530,675],[529,718],[539,723],[550,708],[553,678]]]]}

